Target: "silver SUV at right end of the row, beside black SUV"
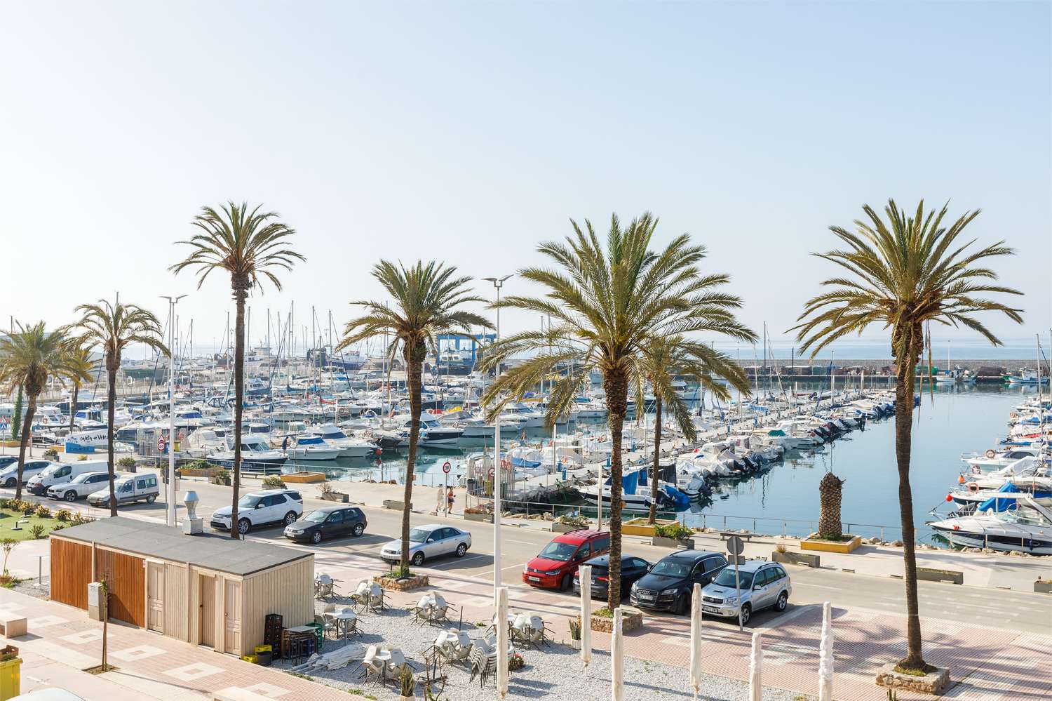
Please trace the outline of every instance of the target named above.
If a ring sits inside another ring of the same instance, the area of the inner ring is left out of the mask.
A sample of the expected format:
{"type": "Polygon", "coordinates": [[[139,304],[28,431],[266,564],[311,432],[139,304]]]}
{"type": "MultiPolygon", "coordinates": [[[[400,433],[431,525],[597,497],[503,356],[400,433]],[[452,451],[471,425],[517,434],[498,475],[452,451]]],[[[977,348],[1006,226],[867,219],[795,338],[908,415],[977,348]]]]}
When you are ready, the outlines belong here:
{"type": "Polygon", "coordinates": [[[785,567],[776,562],[748,560],[737,569],[741,589],[734,588],[733,567],[725,568],[702,589],[703,613],[737,618],[741,608],[742,623],[745,624],[761,608],[773,606],[780,613],[786,609],[792,594],[792,582],[785,567]]]}

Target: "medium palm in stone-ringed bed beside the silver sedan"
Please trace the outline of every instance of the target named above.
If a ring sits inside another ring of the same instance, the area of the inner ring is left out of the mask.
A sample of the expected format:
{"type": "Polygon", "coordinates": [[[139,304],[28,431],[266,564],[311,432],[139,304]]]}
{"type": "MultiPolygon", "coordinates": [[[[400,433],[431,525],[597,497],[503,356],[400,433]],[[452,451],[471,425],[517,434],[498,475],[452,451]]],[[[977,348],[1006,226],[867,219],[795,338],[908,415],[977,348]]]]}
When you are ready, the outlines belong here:
{"type": "MultiPolygon", "coordinates": [[[[402,354],[406,381],[409,388],[409,455],[405,463],[406,505],[402,513],[402,558],[401,572],[409,567],[409,504],[412,503],[412,473],[417,461],[417,443],[420,440],[420,392],[424,373],[424,358],[428,346],[437,352],[438,334],[470,334],[471,326],[489,328],[484,317],[466,312],[461,307],[486,300],[471,294],[469,277],[458,277],[457,267],[430,261],[417,261],[406,267],[382,260],[372,267],[376,278],[393,300],[393,306],[383,302],[358,301],[352,304],[364,307],[365,314],[347,322],[343,339],[337,350],[359,343],[368,338],[388,335],[390,344],[386,348],[388,360],[402,354]]],[[[389,365],[388,365],[389,366],[389,365]]]]}

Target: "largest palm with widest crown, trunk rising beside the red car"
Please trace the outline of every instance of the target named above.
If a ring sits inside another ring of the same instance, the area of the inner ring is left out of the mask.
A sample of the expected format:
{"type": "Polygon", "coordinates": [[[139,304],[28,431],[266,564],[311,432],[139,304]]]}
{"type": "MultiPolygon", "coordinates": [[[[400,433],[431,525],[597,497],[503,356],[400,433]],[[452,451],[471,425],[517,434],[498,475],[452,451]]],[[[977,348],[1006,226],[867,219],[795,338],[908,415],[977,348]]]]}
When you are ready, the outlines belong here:
{"type": "MultiPolygon", "coordinates": [[[[726,275],[702,276],[697,263],[705,247],[677,236],[661,252],[650,251],[658,220],[649,213],[622,227],[611,217],[605,245],[585,220],[564,242],[542,243],[539,251],[554,268],[528,267],[520,275],[545,288],[543,297],[507,297],[494,306],[551,315],[545,331],[513,334],[492,346],[483,368],[518,356],[522,363],[490,385],[483,402],[493,415],[531,392],[553,368],[564,369],[550,393],[546,421],[567,413],[588,374],[603,376],[613,453],[610,457],[611,610],[621,601],[622,432],[628,413],[629,385],[645,375],[644,347],[656,336],[717,333],[752,340],[754,334],[734,319],[741,300],[713,288],[726,275]]],[[[568,582],[568,580],[566,580],[568,582]]]]}

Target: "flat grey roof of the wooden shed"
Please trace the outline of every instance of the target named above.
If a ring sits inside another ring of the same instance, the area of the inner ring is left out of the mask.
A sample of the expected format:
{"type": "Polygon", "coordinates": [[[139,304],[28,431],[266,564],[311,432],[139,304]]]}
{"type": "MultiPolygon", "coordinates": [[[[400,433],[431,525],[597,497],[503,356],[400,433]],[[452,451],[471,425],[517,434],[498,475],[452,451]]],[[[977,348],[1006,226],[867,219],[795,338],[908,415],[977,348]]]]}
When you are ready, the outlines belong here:
{"type": "Polygon", "coordinates": [[[304,550],[250,540],[231,540],[217,534],[187,536],[180,528],[163,523],[121,516],[62,528],[53,536],[82,543],[94,542],[143,557],[188,562],[239,576],[313,557],[313,554],[304,550]]]}

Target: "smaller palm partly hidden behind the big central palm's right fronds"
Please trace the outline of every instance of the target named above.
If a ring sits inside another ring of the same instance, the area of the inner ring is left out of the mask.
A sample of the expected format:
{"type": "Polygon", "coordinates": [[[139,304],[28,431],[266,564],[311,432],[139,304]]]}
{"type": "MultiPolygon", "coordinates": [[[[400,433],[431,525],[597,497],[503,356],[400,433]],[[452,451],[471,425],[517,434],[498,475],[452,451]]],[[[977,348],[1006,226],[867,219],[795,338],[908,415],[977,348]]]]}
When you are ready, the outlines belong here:
{"type": "MultiPolygon", "coordinates": [[[[643,362],[638,375],[635,405],[643,406],[644,384],[649,383],[654,395],[654,460],[650,474],[650,494],[658,494],[658,472],[661,461],[662,412],[668,406],[675,424],[689,441],[697,438],[687,402],[676,394],[672,380],[676,375],[695,379],[722,400],[730,399],[730,390],[716,379],[724,379],[739,392],[748,392],[749,378],[730,356],[700,341],[681,335],[653,336],[642,344],[643,362]]],[[[658,517],[658,502],[651,500],[649,523],[658,517]]]]}

